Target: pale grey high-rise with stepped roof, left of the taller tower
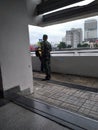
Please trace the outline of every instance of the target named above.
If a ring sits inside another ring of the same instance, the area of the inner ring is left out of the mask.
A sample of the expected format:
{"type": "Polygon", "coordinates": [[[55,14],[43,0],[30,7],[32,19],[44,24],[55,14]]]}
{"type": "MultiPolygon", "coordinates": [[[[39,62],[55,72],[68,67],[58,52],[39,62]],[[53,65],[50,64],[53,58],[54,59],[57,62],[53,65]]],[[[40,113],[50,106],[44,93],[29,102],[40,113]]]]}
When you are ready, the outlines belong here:
{"type": "Polygon", "coordinates": [[[82,29],[81,28],[72,28],[71,30],[66,31],[66,43],[71,45],[73,48],[77,48],[77,45],[82,42],[82,29]]]}

